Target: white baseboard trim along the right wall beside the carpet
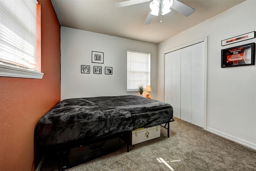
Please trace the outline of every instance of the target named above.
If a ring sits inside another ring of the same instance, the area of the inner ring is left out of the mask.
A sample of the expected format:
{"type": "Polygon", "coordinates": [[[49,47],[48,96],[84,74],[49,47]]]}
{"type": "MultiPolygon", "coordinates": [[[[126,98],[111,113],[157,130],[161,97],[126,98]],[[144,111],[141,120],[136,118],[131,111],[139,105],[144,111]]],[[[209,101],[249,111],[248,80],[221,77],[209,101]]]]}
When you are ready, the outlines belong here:
{"type": "Polygon", "coordinates": [[[229,139],[229,140],[231,140],[231,141],[234,141],[234,142],[236,142],[236,143],[245,145],[245,146],[247,146],[247,147],[250,147],[250,148],[256,150],[256,144],[254,144],[254,143],[250,143],[250,142],[248,142],[248,141],[244,141],[243,139],[234,137],[234,136],[232,136],[232,135],[228,135],[228,134],[226,134],[226,133],[217,131],[217,130],[212,129],[212,128],[209,128],[209,127],[207,127],[206,130],[209,131],[209,132],[211,132],[211,133],[214,133],[214,134],[216,134],[216,135],[220,135],[221,137],[224,137],[224,138],[226,138],[226,139],[229,139]]]}

